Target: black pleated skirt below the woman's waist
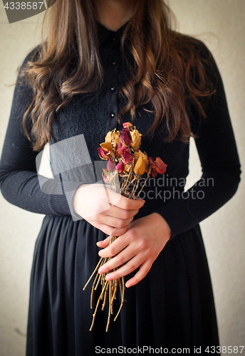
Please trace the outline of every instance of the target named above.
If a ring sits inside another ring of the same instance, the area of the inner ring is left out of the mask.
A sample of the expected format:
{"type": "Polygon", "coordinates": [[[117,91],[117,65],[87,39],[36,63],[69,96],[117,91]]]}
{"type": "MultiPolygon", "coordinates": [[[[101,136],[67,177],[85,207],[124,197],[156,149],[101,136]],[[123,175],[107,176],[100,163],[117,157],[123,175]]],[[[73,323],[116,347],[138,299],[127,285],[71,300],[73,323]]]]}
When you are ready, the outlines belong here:
{"type": "MultiPolygon", "coordinates": [[[[93,282],[83,286],[100,259],[96,242],[105,237],[85,220],[43,219],[31,271],[26,356],[151,355],[178,348],[196,355],[199,347],[206,355],[207,347],[217,350],[212,283],[199,225],[169,241],[147,276],[126,288],[123,308],[116,321],[111,318],[107,333],[108,303],[103,311],[100,304],[89,331],[93,282]]],[[[100,288],[94,307],[99,294],[100,288]]],[[[119,306],[120,295],[115,313],[119,306]]]]}

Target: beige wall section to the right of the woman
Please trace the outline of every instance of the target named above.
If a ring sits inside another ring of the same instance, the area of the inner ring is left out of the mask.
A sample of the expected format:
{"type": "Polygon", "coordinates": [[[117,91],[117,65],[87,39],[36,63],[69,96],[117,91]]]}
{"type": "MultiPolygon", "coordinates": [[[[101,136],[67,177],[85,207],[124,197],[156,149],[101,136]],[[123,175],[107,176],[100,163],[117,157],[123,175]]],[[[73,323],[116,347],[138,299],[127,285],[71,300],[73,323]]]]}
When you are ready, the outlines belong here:
{"type": "MultiPolygon", "coordinates": [[[[197,35],[212,51],[224,81],[242,170],[245,159],[245,3],[244,0],[170,0],[179,31],[197,35]]],[[[199,177],[191,152],[192,177],[199,177]]],[[[201,224],[217,307],[221,345],[245,340],[244,179],[236,195],[201,224]]]]}

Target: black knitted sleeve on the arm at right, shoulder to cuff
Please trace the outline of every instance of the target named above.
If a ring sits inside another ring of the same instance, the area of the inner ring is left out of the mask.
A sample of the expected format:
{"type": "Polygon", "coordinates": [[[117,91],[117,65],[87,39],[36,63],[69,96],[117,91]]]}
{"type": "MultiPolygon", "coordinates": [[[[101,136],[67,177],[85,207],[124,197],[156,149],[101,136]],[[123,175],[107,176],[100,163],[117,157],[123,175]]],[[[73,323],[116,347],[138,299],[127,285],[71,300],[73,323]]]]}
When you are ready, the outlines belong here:
{"type": "MultiPolygon", "coordinates": [[[[203,47],[207,56],[209,51],[203,47]]],[[[217,82],[217,88],[215,93],[206,99],[207,118],[201,119],[199,126],[197,119],[194,119],[199,116],[194,105],[190,117],[192,132],[197,133],[195,143],[202,164],[202,177],[187,192],[181,194],[179,199],[166,201],[160,208],[155,209],[155,212],[166,219],[172,237],[197,225],[217,211],[234,196],[240,182],[241,165],[224,85],[212,56],[210,61],[214,68],[212,75],[215,75],[215,78],[210,79],[217,82]]]]}

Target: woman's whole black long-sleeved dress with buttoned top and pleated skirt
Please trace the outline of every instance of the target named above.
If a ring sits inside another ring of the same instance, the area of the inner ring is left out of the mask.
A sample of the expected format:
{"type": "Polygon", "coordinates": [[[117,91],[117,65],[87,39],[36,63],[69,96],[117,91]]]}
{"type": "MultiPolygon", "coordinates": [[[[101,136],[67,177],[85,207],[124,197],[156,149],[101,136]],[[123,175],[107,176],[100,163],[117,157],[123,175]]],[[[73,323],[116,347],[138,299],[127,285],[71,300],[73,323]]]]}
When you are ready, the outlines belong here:
{"type": "MultiPolygon", "coordinates": [[[[125,104],[119,88],[130,75],[120,55],[122,33],[123,28],[113,32],[98,24],[105,83],[97,93],[75,95],[59,110],[53,123],[51,144],[84,135],[91,162],[99,160],[98,147],[108,130],[122,128],[116,120],[125,104]]],[[[196,41],[196,45],[197,51],[209,56],[201,42],[196,41]]],[[[130,60],[129,53],[127,56],[130,60]]],[[[137,109],[134,125],[143,135],[142,150],[150,157],[161,157],[167,163],[167,172],[165,182],[157,180],[162,178],[158,176],[147,184],[142,195],[145,206],[135,219],[158,212],[170,225],[171,239],[147,276],[126,289],[123,309],[116,322],[111,320],[108,333],[107,310],[98,311],[89,331],[93,313],[90,288],[83,291],[99,258],[95,243],[106,236],[84,219],[74,218],[70,209],[72,189],[69,195],[46,194],[40,188],[36,152],[21,130],[21,117],[31,102],[32,90],[25,81],[16,85],[1,157],[1,192],[17,206],[46,214],[33,256],[26,355],[87,356],[112,353],[112,347],[121,355],[140,355],[143,351],[150,355],[150,347],[155,352],[156,348],[165,348],[165,353],[167,348],[189,347],[192,355],[194,347],[202,347],[204,355],[206,347],[219,345],[199,222],[234,195],[240,164],[223,85],[212,56],[207,64],[214,68],[209,77],[214,80],[212,75],[217,74],[217,91],[206,99],[207,119],[201,125],[197,109],[188,103],[192,131],[198,132],[196,145],[203,171],[202,179],[188,192],[184,193],[181,182],[188,174],[189,145],[179,140],[163,142],[164,122],[150,140],[145,132],[154,115],[137,109]]],[[[130,121],[130,117],[125,115],[123,121],[130,121]]],[[[119,298],[115,303],[116,310],[119,298]]]]}

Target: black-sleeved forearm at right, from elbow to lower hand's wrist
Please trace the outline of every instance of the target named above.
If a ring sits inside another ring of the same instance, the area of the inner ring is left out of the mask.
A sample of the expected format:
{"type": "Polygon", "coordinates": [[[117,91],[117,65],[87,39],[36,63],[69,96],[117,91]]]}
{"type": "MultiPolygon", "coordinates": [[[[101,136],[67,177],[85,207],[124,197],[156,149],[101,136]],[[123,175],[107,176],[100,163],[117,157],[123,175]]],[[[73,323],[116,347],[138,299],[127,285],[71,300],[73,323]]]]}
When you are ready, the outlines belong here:
{"type": "Polygon", "coordinates": [[[174,199],[154,209],[170,226],[171,239],[199,224],[234,196],[239,185],[239,167],[203,174],[187,192],[175,192],[174,199]]]}

